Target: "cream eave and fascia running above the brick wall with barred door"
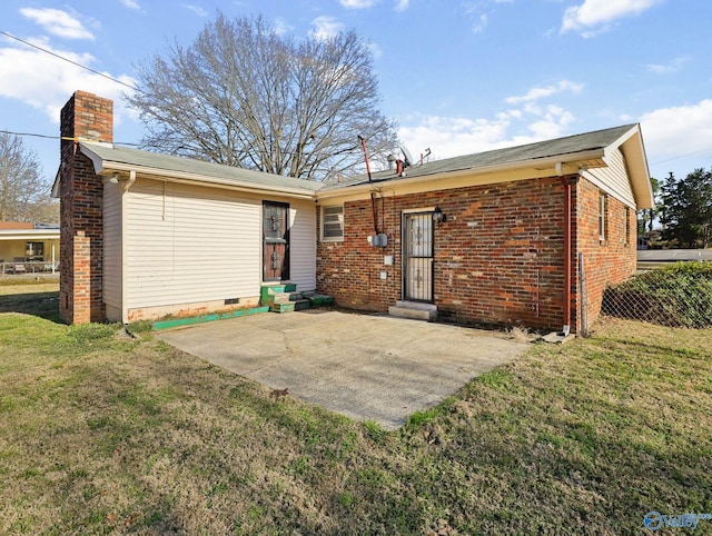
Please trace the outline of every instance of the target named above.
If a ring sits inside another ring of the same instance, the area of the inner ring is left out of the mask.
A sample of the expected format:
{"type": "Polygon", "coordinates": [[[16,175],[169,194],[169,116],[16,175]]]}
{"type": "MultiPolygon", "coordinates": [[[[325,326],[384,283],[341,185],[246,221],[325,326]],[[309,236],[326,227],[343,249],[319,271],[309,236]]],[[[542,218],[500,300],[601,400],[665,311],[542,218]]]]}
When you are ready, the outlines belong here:
{"type": "MultiPolygon", "coordinates": [[[[397,181],[390,181],[389,187],[394,186],[406,186],[406,185],[417,185],[422,182],[429,182],[433,180],[439,179],[453,179],[458,177],[472,177],[473,175],[486,175],[486,173],[496,173],[501,171],[514,171],[517,169],[526,169],[526,168],[536,168],[536,169],[552,169],[552,176],[560,175],[560,170],[562,173],[577,173],[580,170],[578,162],[596,160],[601,159],[605,156],[604,149],[592,149],[582,152],[574,152],[565,156],[555,156],[555,157],[546,157],[546,158],[532,158],[530,160],[521,160],[518,162],[507,162],[507,163],[496,163],[492,166],[482,166],[478,168],[467,168],[459,169],[455,171],[443,171],[437,173],[423,175],[418,177],[406,177],[403,179],[398,179],[397,181]],[[573,165],[573,166],[571,166],[573,165]]],[[[379,181],[374,182],[362,182],[356,186],[346,186],[342,188],[328,189],[328,190],[318,190],[316,191],[317,200],[329,199],[335,197],[342,197],[344,195],[353,195],[353,193],[368,193],[374,188],[375,185],[378,185],[379,181]]]]}

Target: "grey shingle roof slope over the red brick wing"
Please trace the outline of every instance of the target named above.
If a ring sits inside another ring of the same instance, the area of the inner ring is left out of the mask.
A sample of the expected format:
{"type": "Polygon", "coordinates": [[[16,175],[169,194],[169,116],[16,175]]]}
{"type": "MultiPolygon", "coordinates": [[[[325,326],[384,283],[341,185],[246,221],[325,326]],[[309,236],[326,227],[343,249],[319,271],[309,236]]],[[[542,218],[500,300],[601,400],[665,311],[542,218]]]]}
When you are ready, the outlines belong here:
{"type": "MultiPolygon", "coordinates": [[[[435,160],[433,162],[424,163],[423,166],[411,166],[406,168],[406,175],[407,177],[424,177],[428,175],[447,173],[491,166],[514,165],[516,162],[536,160],[540,158],[574,155],[583,151],[604,149],[635,127],[635,123],[623,125],[620,127],[566,136],[564,138],[553,140],[435,160]]],[[[400,177],[396,175],[395,170],[388,169],[372,173],[372,178],[374,181],[385,181],[398,180],[400,177]]],[[[368,177],[366,175],[359,175],[342,179],[338,183],[328,181],[324,189],[347,188],[349,186],[356,186],[364,182],[368,182],[368,177]]]]}

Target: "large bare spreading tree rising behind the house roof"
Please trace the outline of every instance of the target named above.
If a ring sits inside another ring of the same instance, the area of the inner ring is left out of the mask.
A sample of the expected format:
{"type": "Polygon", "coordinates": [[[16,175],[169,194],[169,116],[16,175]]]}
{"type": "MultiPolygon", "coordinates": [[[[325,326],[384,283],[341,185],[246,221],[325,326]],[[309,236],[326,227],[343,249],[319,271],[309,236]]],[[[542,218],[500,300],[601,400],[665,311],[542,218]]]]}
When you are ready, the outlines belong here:
{"type": "Polygon", "coordinates": [[[263,18],[218,14],[138,78],[127,99],[149,149],[322,180],[363,167],[359,135],[384,159],[396,145],[370,48],[353,31],[296,41],[263,18]]]}

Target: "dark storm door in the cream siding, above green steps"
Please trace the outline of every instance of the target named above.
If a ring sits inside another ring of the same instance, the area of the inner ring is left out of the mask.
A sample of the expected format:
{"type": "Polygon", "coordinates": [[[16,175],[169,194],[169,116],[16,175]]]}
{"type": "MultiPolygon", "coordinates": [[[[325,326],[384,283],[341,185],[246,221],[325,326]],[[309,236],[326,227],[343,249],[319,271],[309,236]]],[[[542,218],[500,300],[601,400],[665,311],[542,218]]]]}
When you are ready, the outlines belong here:
{"type": "Polygon", "coordinates": [[[289,279],[289,205],[263,202],[263,280],[289,279]]]}

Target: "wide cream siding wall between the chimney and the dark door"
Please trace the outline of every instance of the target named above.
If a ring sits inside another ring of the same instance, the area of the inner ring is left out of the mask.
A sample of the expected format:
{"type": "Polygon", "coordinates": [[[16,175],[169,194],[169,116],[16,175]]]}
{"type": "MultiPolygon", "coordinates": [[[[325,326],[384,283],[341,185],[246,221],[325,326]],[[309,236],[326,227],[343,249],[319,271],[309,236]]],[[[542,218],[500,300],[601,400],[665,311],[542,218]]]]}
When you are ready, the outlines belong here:
{"type": "Polygon", "coordinates": [[[259,295],[260,200],[138,180],[127,202],[127,307],[259,295]]]}

